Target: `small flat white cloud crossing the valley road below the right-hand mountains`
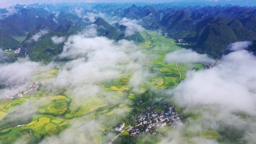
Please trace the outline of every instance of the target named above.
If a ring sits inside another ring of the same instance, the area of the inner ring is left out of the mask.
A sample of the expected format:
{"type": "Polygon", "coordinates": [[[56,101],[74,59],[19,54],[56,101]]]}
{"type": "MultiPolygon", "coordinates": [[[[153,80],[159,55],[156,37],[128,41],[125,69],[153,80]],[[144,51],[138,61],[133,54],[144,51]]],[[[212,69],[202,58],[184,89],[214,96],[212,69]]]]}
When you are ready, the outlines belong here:
{"type": "Polygon", "coordinates": [[[165,55],[164,61],[166,62],[179,62],[179,63],[204,63],[212,59],[208,58],[206,54],[199,54],[191,49],[181,49],[165,55]]]}

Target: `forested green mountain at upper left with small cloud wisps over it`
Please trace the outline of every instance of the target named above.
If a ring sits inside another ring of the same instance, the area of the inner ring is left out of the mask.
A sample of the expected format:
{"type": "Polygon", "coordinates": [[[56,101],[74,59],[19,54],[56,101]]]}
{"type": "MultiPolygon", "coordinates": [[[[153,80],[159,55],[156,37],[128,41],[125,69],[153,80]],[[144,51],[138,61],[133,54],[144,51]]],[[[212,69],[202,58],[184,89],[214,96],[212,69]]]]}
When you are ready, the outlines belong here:
{"type": "Polygon", "coordinates": [[[81,29],[78,28],[73,22],[68,22],[66,25],[61,24],[56,30],[40,25],[36,30],[28,33],[27,38],[22,42],[22,52],[29,55],[32,61],[51,62],[54,57],[62,52],[64,42],[56,45],[52,42],[52,37],[65,37],[77,33],[81,29]],[[48,33],[40,37],[38,41],[31,40],[31,37],[39,33],[40,30],[47,30],[48,33]]]}

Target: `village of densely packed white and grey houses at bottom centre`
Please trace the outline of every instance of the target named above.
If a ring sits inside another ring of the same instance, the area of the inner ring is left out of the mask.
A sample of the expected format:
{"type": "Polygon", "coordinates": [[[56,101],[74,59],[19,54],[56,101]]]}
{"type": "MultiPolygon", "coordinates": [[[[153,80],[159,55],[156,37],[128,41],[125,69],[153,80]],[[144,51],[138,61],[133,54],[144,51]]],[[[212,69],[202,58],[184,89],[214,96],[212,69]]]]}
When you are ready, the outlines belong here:
{"type": "MultiPolygon", "coordinates": [[[[142,101],[137,102],[140,104],[142,101]]],[[[147,112],[138,116],[135,120],[135,126],[131,126],[129,129],[125,129],[129,132],[130,136],[137,136],[138,138],[144,132],[150,132],[151,134],[156,134],[158,128],[162,128],[167,125],[175,124],[182,126],[180,117],[178,117],[177,111],[173,105],[164,103],[161,105],[166,107],[167,111],[152,111],[149,106],[147,106],[147,112]]],[[[125,127],[125,123],[121,123],[116,126],[115,131],[122,132],[122,129],[125,127]]]]}

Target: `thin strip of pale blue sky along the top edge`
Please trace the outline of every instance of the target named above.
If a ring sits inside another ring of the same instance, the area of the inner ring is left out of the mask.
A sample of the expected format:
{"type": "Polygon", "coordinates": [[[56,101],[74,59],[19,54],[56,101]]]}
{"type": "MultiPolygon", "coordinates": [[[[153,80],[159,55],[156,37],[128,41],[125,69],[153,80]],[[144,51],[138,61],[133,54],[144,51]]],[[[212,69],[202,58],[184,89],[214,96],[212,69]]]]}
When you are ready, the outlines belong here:
{"type": "MultiPolygon", "coordinates": [[[[158,3],[162,2],[172,2],[172,1],[188,1],[188,2],[195,2],[195,0],[158,0],[158,3]]],[[[247,6],[255,6],[255,0],[197,0],[197,1],[204,1],[204,2],[212,2],[213,4],[221,4],[223,2],[227,2],[226,4],[239,4],[239,5],[247,5],[247,6]]],[[[0,0],[0,7],[8,7],[14,4],[33,4],[33,3],[110,3],[110,2],[117,2],[117,3],[124,3],[124,2],[149,2],[155,3],[155,0],[0,0]]]]}

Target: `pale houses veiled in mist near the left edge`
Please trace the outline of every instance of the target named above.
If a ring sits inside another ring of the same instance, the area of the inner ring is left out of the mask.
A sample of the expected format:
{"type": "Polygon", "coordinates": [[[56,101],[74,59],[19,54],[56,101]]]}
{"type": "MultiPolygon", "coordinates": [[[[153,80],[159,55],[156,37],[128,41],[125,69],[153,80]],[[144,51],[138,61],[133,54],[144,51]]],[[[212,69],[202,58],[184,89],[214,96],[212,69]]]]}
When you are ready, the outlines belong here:
{"type": "Polygon", "coordinates": [[[16,98],[22,98],[24,97],[23,94],[27,94],[28,92],[31,91],[36,91],[39,88],[39,85],[41,84],[41,82],[32,82],[31,80],[24,80],[22,82],[16,83],[15,85],[9,85],[9,88],[11,90],[14,89],[20,89],[16,94],[13,94],[12,96],[7,96],[6,97],[6,101],[16,97],[16,98]]]}

